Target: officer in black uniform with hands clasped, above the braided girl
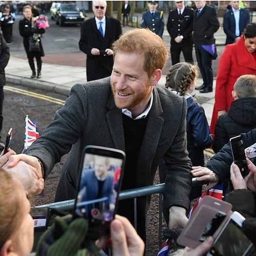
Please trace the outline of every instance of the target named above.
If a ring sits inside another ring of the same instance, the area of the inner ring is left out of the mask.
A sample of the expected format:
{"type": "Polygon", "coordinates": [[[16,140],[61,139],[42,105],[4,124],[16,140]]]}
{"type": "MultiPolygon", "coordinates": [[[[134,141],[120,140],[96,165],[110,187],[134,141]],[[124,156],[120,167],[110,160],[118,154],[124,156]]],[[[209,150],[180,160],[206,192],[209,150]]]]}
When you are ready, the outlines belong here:
{"type": "Polygon", "coordinates": [[[193,63],[193,17],[194,11],[185,7],[184,1],[175,0],[177,9],[169,12],[167,31],[170,35],[170,55],[172,64],[180,62],[182,51],[186,62],[193,63]]]}

